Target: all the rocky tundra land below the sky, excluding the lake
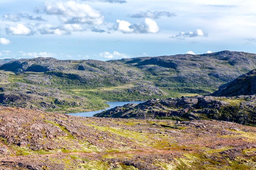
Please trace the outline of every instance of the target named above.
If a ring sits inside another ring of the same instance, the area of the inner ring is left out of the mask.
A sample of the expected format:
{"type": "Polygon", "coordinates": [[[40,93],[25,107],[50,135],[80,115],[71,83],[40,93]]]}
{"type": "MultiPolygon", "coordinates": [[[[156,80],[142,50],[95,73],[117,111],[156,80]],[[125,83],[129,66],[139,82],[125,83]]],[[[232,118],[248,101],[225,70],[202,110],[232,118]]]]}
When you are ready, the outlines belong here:
{"type": "Polygon", "coordinates": [[[255,170],[254,63],[221,51],[2,64],[0,170],[255,170]]]}

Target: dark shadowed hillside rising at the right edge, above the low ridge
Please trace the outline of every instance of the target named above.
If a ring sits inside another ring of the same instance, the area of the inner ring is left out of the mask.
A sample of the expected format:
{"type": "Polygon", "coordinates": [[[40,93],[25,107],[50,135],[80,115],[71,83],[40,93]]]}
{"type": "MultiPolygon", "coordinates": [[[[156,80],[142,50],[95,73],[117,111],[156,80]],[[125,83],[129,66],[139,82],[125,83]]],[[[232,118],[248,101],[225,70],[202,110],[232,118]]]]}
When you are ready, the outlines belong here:
{"type": "Polygon", "coordinates": [[[256,94],[256,70],[241,75],[237,79],[220,86],[213,96],[238,96],[256,94]]]}

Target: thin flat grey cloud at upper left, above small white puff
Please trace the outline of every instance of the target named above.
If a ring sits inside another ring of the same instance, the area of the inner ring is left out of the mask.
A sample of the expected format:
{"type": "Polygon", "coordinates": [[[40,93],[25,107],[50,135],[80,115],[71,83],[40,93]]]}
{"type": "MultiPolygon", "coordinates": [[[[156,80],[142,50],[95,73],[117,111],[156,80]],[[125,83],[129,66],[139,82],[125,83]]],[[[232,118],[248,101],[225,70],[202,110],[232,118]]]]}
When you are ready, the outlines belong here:
{"type": "Polygon", "coordinates": [[[2,19],[4,21],[11,21],[11,22],[18,22],[21,19],[36,20],[36,21],[46,21],[41,16],[34,17],[33,15],[29,15],[27,13],[20,13],[20,12],[19,13],[3,15],[2,19]]]}

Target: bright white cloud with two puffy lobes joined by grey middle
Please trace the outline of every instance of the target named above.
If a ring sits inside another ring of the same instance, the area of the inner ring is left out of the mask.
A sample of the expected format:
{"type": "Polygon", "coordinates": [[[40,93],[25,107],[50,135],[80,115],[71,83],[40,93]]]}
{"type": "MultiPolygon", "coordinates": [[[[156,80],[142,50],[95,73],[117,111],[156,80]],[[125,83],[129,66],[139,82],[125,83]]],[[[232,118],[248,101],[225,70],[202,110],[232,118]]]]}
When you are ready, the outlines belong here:
{"type": "Polygon", "coordinates": [[[144,22],[133,25],[128,21],[117,20],[114,30],[122,33],[158,33],[160,29],[154,20],[146,18],[144,22]]]}

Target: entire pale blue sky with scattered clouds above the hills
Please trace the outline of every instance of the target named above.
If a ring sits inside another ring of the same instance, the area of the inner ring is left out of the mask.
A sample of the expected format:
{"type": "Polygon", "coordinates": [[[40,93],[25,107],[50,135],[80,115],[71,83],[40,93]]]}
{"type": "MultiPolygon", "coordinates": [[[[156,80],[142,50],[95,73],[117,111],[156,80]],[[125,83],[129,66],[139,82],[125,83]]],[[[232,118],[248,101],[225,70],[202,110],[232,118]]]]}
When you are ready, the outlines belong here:
{"type": "Polygon", "coordinates": [[[0,59],[256,53],[254,0],[0,0],[0,59]]]}

